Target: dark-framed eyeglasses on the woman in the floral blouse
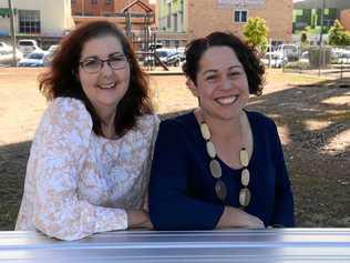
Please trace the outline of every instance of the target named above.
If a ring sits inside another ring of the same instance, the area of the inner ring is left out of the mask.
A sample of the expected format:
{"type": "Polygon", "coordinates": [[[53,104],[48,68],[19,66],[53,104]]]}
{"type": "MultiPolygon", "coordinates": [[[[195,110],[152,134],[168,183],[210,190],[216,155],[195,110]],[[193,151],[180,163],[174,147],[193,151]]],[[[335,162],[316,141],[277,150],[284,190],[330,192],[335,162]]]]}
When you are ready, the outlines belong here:
{"type": "Polygon", "coordinates": [[[106,60],[102,60],[99,58],[92,58],[86,59],[83,61],[80,61],[80,67],[86,72],[86,73],[99,73],[104,63],[107,63],[112,70],[121,70],[126,67],[126,58],[124,55],[115,55],[106,60]]]}

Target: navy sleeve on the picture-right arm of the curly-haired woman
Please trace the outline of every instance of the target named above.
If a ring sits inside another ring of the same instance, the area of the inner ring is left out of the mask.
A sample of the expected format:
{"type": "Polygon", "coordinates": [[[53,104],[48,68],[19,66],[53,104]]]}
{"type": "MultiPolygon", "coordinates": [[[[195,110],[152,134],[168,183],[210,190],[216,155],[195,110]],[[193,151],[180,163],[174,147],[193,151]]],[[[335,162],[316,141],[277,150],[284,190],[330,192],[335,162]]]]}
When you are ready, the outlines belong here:
{"type": "Polygon", "coordinates": [[[294,198],[284,158],[284,151],[275,123],[271,128],[271,134],[274,134],[275,145],[272,149],[276,169],[275,204],[271,223],[272,225],[292,227],[295,226],[294,198]]]}

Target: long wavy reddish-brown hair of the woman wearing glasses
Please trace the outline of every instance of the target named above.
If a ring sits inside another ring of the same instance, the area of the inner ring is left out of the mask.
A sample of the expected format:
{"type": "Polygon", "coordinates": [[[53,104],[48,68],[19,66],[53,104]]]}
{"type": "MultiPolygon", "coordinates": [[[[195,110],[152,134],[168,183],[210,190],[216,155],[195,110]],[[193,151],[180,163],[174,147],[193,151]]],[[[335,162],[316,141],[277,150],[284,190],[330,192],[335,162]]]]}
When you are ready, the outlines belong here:
{"type": "Polygon", "coordinates": [[[49,101],[60,97],[81,100],[91,114],[93,131],[95,134],[103,136],[102,120],[85,95],[76,78],[76,72],[83,45],[91,39],[105,36],[114,36],[120,40],[130,63],[131,78],[128,89],[116,107],[114,119],[115,133],[117,136],[122,136],[135,127],[137,117],[152,114],[153,105],[148,88],[148,77],[140,68],[126,37],[115,24],[107,21],[83,23],[62,39],[50,70],[39,77],[39,90],[49,101]]]}

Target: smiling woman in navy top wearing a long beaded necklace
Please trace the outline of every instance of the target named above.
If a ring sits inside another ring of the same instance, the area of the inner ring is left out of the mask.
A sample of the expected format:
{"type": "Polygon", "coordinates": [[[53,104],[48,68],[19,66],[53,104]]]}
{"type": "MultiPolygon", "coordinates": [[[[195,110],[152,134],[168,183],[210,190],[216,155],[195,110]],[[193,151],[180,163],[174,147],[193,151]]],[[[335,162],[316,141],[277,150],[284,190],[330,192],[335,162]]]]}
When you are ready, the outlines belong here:
{"type": "Polygon", "coordinates": [[[264,65],[237,37],[214,32],[186,49],[193,112],[161,123],[151,172],[157,230],[294,226],[294,199],[274,121],[246,110],[264,65]]]}

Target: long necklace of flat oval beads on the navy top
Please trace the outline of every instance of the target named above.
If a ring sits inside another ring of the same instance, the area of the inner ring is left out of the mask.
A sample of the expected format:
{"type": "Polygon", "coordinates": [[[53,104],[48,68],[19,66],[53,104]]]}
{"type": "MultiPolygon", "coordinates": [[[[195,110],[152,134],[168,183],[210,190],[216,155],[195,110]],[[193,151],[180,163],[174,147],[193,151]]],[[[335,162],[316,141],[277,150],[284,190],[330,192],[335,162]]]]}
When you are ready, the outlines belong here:
{"type": "MultiPolygon", "coordinates": [[[[203,113],[200,110],[199,110],[198,119],[200,122],[202,136],[206,141],[206,151],[210,158],[209,170],[210,170],[212,176],[216,179],[215,192],[216,192],[217,198],[223,203],[225,203],[225,200],[227,196],[227,188],[226,188],[226,184],[224,183],[224,181],[220,179],[223,175],[222,165],[217,160],[216,149],[215,149],[213,141],[210,140],[212,133],[210,133],[209,127],[205,122],[205,120],[203,118],[203,113]]],[[[240,129],[240,132],[241,132],[241,129],[240,129]]],[[[240,165],[243,166],[243,170],[240,173],[241,189],[239,191],[239,204],[244,209],[244,208],[248,206],[248,204],[250,202],[250,196],[251,196],[250,191],[248,189],[248,184],[250,181],[250,173],[248,170],[249,155],[248,155],[248,151],[245,146],[243,146],[239,150],[239,162],[240,162],[240,165]]]]}

